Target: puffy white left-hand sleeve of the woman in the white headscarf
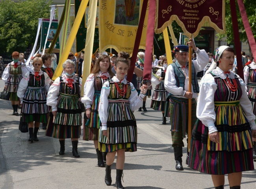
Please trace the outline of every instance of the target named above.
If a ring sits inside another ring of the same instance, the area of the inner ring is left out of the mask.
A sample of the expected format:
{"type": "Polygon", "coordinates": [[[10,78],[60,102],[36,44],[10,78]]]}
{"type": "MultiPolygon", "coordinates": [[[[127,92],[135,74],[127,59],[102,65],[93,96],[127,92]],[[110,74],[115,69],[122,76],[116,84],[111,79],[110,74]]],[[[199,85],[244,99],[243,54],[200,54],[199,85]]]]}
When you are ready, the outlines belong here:
{"type": "Polygon", "coordinates": [[[214,125],[216,114],[214,111],[214,93],[217,84],[211,74],[205,74],[200,82],[200,93],[197,101],[197,118],[205,126],[214,125]]]}

